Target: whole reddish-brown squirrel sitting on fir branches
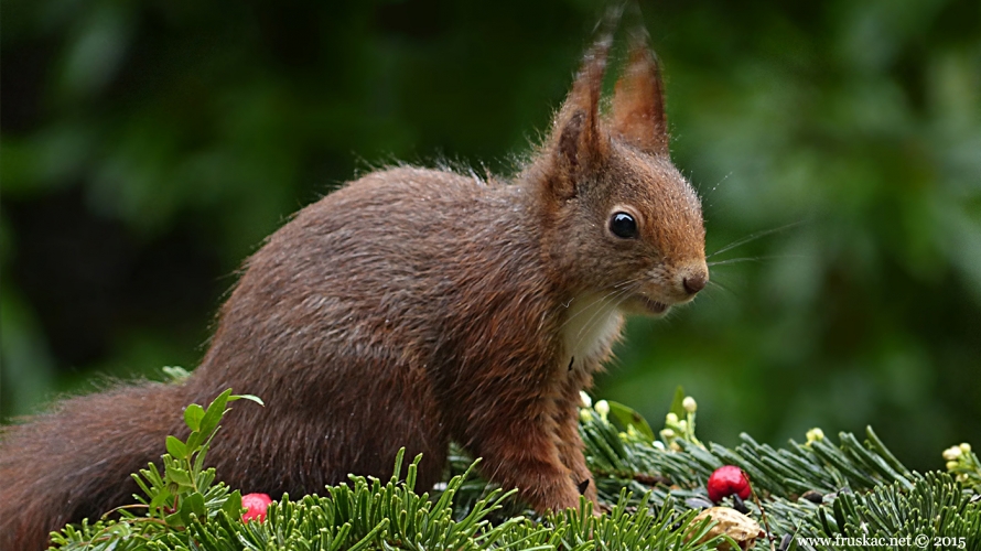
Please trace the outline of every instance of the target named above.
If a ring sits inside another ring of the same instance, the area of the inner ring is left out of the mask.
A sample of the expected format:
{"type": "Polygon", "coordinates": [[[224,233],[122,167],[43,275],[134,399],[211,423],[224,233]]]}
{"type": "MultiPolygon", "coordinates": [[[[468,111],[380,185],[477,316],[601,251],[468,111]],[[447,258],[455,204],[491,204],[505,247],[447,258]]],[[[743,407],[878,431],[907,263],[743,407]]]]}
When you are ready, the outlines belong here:
{"type": "Polygon", "coordinates": [[[709,280],[699,197],[669,158],[664,86],[646,33],[612,100],[612,44],[587,51],[543,143],[510,181],[397,166],[302,208],[244,266],[201,365],[179,383],[71,398],[7,426],[0,548],[131,503],[182,409],[227,388],[208,453],[235,488],[304,495],[348,473],[385,476],[450,441],[538,511],[596,501],[580,391],[625,315],[661,316],[709,280]]]}

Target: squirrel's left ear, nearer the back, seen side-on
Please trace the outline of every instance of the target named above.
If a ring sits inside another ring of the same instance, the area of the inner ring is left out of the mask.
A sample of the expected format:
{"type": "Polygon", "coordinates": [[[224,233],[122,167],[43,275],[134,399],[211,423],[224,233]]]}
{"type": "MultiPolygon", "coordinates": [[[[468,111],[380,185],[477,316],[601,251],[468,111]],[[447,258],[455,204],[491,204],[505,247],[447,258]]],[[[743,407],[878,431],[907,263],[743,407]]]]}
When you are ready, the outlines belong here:
{"type": "Polygon", "coordinates": [[[605,34],[586,53],[572,91],[556,117],[549,139],[550,186],[554,196],[575,195],[576,182],[603,163],[608,138],[600,121],[600,94],[612,37],[605,34]]]}

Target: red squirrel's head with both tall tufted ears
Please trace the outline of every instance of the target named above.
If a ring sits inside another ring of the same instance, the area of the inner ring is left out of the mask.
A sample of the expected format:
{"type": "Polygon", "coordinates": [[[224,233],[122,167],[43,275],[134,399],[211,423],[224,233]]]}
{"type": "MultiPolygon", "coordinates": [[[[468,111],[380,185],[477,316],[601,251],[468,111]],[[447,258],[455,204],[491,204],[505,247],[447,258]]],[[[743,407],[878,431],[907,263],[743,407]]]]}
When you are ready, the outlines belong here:
{"type": "Polygon", "coordinates": [[[699,197],[671,163],[660,71],[633,37],[612,114],[600,112],[610,37],[589,52],[531,166],[545,247],[576,292],[658,315],[709,281],[699,197]]]}

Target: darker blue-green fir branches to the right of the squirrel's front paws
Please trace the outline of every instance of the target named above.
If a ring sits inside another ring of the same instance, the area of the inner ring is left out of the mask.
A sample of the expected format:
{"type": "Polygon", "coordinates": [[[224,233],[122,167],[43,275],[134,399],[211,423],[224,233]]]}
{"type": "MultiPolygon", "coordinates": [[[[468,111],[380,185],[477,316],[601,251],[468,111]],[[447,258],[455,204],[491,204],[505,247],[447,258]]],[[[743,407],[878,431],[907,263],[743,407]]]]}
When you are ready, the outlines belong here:
{"type": "MultiPolygon", "coordinates": [[[[742,443],[734,449],[715,443],[702,446],[681,437],[666,445],[634,431],[621,432],[600,413],[584,415],[581,430],[603,500],[624,488],[643,493],[653,487],[655,504],[670,500],[679,511],[704,507],[709,504],[705,482],[712,472],[736,465],[747,474],[758,499],[746,504],[751,515],[768,526],[777,540],[785,534],[801,542],[836,536],[920,536],[931,542],[933,538],[955,538],[949,547],[963,549],[957,543],[962,541],[967,549],[981,549],[981,494],[964,489],[945,473],[912,473],[872,428],[866,428],[864,442],[842,432],[834,445],[820,431],[812,431],[808,442],[790,441],[779,450],[747,434],[740,436],[742,443]],[[804,498],[805,494],[821,504],[804,498]],[[765,511],[765,522],[757,504],[765,511]]],[[[757,542],[757,549],[768,547],[757,542]]]]}

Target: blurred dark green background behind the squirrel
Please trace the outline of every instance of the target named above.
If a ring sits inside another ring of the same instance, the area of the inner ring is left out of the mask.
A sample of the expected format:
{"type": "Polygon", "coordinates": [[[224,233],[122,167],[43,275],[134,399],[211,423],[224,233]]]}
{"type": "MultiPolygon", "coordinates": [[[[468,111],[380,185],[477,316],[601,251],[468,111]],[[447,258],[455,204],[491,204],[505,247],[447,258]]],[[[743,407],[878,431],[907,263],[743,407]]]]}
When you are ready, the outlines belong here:
{"type": "MultiPolygon", "coordinates": [[[[595,393],[703,439],[981,445],[981,3],[642,2],[713,284],[595,393]],[[786,227],[790,225],[789,227],[786,227]],[[730,262],[726,262],[730,260],[730,262]]],[[[392,162],[513,172],[603,7],[3,0],[2,414],[193,367],[239,262],[392,162]]]]}

